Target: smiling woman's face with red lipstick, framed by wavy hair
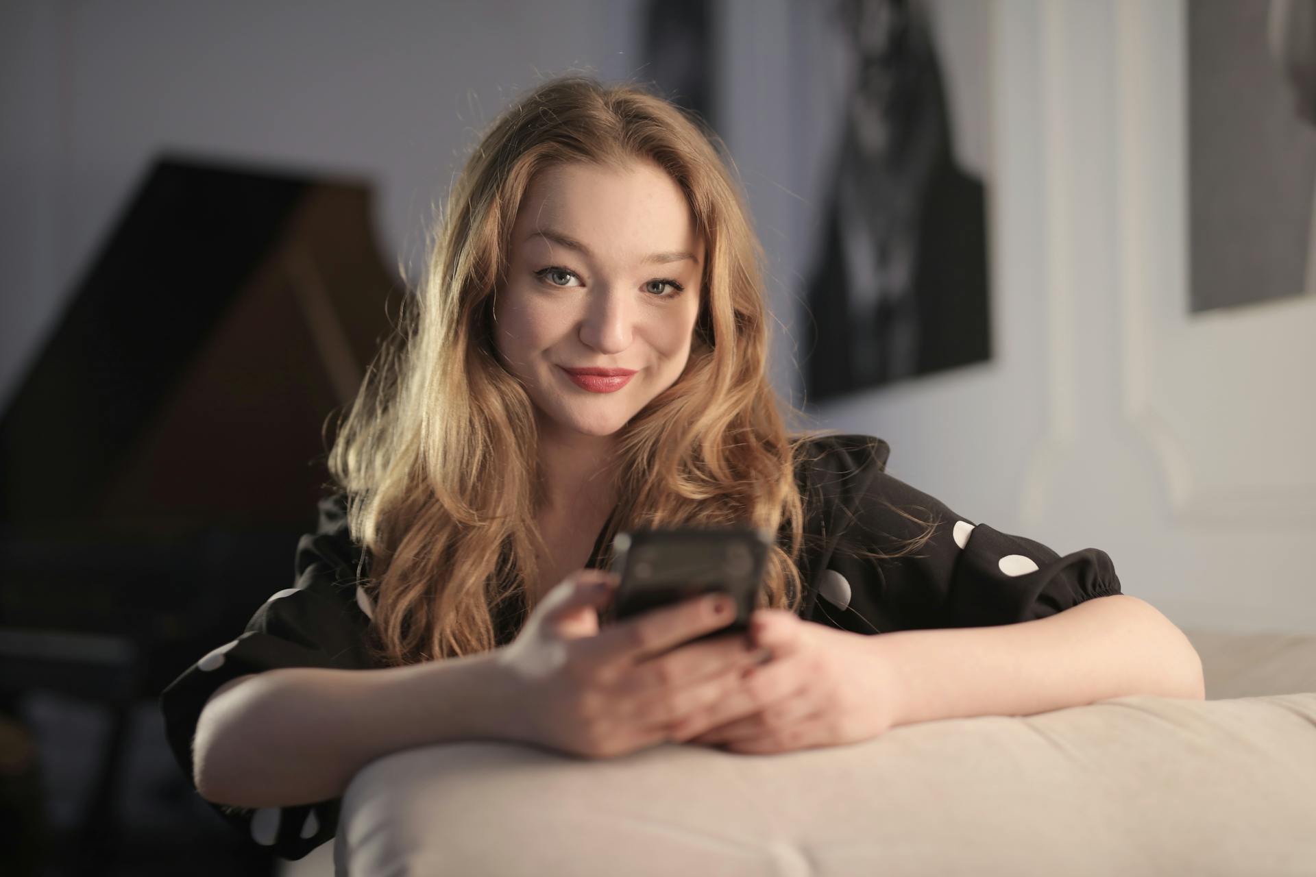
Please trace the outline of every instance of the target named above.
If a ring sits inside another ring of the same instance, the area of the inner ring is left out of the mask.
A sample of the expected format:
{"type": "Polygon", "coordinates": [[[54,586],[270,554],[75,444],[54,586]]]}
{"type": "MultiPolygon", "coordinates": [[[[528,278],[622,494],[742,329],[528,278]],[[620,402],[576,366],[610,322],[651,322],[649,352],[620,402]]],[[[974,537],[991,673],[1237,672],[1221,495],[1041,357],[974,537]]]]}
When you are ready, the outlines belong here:
{"type": "Polygon", "coordinates": [[[686,199],[657,166],[574,163],[538,174],[512,229],[494,334],[541,423],[611,435],[676,383],[703,264],[686,199]],[[588,368],[634,373],[620,388],[569,373],[588,368]]]}

